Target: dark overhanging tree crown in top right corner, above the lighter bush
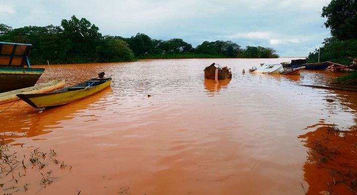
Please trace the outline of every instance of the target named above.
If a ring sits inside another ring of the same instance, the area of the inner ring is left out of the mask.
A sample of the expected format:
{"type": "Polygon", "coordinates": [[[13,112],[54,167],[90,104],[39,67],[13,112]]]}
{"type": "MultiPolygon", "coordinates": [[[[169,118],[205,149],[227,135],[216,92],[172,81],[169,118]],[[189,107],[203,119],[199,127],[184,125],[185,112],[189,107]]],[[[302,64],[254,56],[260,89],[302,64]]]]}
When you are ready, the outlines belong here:
{"type": "Polygon", "coordinates": [[[325,26],[332,36],[341,40],[357,38],[356,0],[332,0],[322,8],[321,16],[327,18],[325,26]]]}

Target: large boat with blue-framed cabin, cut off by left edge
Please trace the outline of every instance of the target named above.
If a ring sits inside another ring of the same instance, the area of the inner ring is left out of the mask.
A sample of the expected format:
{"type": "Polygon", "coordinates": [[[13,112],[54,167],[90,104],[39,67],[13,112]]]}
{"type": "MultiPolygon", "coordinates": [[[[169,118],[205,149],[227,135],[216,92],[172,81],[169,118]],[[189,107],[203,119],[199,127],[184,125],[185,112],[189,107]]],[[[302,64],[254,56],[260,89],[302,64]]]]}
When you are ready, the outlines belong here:
{"type": "Polygon", "coordinates": [[[29,61],[31,46],[31,44],[0,42],[0,92],[36,84],[45,69],[31,67],[29,61]]]}

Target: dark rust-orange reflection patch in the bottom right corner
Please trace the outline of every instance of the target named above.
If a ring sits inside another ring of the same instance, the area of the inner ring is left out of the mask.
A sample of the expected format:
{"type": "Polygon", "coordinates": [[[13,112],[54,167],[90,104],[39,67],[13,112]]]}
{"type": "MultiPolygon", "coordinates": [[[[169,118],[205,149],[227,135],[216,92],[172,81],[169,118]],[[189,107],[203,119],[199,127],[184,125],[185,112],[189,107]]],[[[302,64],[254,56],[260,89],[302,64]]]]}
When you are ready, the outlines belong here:
{"type": "Polygon", "coordinates": [[[299,138],[309,149],[304,164],[306,194],[355,194],[357,128],[341,131],[325,124],[299,138]]]}

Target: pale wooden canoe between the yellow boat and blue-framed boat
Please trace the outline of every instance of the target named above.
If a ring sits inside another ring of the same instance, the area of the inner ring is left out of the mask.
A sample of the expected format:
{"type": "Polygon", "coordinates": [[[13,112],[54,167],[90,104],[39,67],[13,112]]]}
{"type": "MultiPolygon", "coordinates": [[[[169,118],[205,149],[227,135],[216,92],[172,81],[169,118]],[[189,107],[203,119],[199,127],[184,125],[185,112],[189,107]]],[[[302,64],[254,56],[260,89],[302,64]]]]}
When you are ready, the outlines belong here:
{"type": "Polygon", "coordinates": [[[5,104],[13,101],[19,100],[19,97],[16,96],[19,93],[30,94],[30,93],[44,93],[60,89],[64,86],[64,79],[57,79],[50,81],[48,83],[31,86],[27,88],[16,89],[12,91],[7,91],[0,93],[0,104],[5,104]]]}

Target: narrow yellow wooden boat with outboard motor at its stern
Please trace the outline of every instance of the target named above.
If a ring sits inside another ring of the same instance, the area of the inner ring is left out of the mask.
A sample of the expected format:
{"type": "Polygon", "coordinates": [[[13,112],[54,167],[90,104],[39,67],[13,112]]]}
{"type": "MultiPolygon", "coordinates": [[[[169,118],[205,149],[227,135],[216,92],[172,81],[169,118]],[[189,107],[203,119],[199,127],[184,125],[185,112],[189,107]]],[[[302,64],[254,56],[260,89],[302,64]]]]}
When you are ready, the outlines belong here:
{"type": "Polygon", "coordinates": [[[106,87],[112,82],[112,78],[93,78],[79,84],[58,89],[52,92],[35,94],[17,94],[20,99],[34,108],[45,108],[69,104],[83,99],[106,87]]]}

